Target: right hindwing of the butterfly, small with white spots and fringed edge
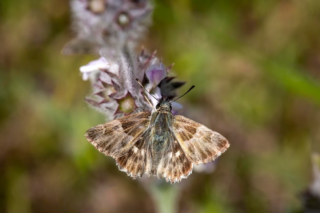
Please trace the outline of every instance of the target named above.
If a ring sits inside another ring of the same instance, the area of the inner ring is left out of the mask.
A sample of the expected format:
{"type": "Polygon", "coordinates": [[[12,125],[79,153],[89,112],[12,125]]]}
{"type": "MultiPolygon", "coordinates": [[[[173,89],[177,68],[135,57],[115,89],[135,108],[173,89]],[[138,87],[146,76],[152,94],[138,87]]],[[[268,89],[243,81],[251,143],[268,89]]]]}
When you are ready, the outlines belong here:
{"type": "Polygon", "coordinates": [[[180,182],[182,178],[187,178],[192,173],[192,163],[186,157],[173,132],[170,132],[166,146],[157,166],[156,176],[166,178],[167,182],[180,182]]]}

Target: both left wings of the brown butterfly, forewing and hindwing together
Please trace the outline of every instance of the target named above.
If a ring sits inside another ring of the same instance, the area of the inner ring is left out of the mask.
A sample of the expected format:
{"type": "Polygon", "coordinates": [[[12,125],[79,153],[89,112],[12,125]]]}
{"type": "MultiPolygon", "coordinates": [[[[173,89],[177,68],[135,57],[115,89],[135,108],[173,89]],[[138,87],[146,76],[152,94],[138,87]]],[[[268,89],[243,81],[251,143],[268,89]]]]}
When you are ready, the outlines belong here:
{"type": "Polygon", "coordinates": [[[142,176],[146,167],[150,112],[139,112],[111,122],[97,125],[86,131],[85,137],[99,152],[116,159],[121,171],[135,178],[142,176]]]}

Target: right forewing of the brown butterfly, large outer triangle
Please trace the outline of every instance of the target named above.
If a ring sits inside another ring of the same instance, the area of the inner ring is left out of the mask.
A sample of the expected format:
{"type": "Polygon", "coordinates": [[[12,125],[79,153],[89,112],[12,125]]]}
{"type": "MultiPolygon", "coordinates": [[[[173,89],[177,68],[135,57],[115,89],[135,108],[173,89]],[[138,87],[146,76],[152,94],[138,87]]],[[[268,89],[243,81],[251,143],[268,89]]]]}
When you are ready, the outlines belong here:
{"type": "Polygon", "coordinates": [[[218,132],[182,115],[174,116],[173,131],[187,158],[195,164],[216,159],[230,146],[218,132]]]}

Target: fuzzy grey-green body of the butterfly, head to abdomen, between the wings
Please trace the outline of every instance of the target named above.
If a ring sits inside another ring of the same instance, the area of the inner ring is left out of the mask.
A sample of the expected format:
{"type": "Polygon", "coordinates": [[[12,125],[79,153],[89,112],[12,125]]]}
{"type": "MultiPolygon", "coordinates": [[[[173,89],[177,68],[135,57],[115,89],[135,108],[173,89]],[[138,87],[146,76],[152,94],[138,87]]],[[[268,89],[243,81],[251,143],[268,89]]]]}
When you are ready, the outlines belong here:
{"type": "Polygon", "coordinates": [[[152,153],[152,170],[156,171],[159,161],[162,159],[163,153],[166,153],[166,149],[169,147],[171,132],[171,125],[173,122],[173,114],[171,113],[171,105],[168,99],[162,98],[156,107],[156,111],[152,112],[150,123],[152,139],[151,153],[152,153]]]}

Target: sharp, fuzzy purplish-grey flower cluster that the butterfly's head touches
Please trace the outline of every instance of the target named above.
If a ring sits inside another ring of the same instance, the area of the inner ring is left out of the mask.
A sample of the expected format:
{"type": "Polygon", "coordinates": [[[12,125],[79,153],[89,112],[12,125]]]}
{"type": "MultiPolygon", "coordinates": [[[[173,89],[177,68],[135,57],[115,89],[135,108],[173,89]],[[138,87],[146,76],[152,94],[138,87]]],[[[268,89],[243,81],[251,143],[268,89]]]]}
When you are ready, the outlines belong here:
{"type": "MultiPolygon", "coordinates": [[[[142,88],[135,81],[136,78],[157,99],[163,97],[164,93],[172,94],[171,98],[175,97],[175,89],[184,84],[173,82],[173,77],[167,77],[169,69],[158,58],[145,51],[139,56],[131,52],[110,55],[107,51],[101,51],[101,55],[103,56],[98,60],[81,66],[80,72],[83,80],[90,79],[93,86],[93,93],[86,101],[109,119],[140,111],[152,111],[142,88]]],[[[158,101],[149,94],[146,96],[154,108],[158,101]]],[[[172,112],[175,113],[181,105],[174,103],[172,107],[172,112]]]]}

